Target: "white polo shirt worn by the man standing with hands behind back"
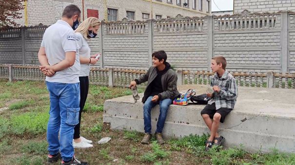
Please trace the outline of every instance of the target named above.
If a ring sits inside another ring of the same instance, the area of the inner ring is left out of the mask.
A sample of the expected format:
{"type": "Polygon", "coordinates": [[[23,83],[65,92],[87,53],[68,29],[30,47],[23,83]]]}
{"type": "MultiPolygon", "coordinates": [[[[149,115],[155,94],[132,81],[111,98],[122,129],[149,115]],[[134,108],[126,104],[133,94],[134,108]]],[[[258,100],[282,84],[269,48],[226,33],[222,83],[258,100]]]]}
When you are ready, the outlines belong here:
{"type": "Polygon", "coordinates": [[[52,77],[46,76],[48,82],[77,83],[79,82],[79,46],[72,27],[63,20],[58,20],[48,27],[43,35],[41,47],[45,48],[49,65],[55,65],[65,59],[65,52],[75,51],[75,64],[64,70],[57,71],[52,77]]]}

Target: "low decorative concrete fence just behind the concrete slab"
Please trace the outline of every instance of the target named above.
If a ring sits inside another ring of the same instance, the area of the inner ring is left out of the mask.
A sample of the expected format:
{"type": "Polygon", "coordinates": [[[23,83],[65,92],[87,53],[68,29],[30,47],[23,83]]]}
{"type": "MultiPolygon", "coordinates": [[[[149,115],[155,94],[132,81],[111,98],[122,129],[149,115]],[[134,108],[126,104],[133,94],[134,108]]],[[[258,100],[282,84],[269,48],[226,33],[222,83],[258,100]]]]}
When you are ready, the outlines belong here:
{"type": "MultiPolygon", "coordinates": [[[[127,87],[131,81],[144,75],[146,70],[92,67],[89,81],[92,84],[127,87]]],[[[295,74],[231,72],[238,86],[295,89],[295,74]]],[[[210,85],[214,73],[210,71],[177,70],[177,85],[210,85]]],[[[37,65],[0,64],[0,78],[13,80],[45,80],[37,65]]],[[[144,86],[145,84],[142,84],[144,86]]]]}

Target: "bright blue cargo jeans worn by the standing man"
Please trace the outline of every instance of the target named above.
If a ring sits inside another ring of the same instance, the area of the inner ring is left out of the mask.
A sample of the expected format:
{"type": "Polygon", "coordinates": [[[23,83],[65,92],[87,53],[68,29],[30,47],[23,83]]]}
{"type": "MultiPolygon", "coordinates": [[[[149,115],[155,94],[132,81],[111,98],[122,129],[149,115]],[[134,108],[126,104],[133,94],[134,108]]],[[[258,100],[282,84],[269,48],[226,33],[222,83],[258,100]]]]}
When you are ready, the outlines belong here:
{"type": "Polygon", "coordinates": [[[50,96],[47,142],[50,155],[61,153],[63,161],[74,156],[74,127],[79,123],[79,83],[46,82],[50,96]]]}

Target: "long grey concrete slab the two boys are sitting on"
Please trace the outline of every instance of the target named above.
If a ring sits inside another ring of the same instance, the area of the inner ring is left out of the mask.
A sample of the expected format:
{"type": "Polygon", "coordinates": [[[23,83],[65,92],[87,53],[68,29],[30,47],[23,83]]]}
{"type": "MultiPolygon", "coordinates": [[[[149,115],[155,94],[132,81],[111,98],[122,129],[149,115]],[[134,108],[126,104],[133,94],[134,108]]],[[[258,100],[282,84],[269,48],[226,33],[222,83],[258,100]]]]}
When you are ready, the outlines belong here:
{"type": "MultiPolygon", "coordinates": [[[[196,89],[205,93],[206,85],[183,85],[179,91],[196,89]]],[[[225,137],[224,146],[242,144],[248,151],[269,151],[277,148],[295,152],[295,90],[239,87],[239,96],[234,111],[220,125],[220,134],[225,137]]],[[[142,98],[142,94],[140,94],[142,98]]],[[[203,134],[206,127],[200,111],[205,105],[171,105],[166,118],[163,136],[183,137],[203,134]]],[[[143,104],[135,103],[132,96],[106,100],[103,122],[111,129],[144,132],[143,104]]],[[[152,131],[156,130],[158,105],[152,110],[152,131]]]]}

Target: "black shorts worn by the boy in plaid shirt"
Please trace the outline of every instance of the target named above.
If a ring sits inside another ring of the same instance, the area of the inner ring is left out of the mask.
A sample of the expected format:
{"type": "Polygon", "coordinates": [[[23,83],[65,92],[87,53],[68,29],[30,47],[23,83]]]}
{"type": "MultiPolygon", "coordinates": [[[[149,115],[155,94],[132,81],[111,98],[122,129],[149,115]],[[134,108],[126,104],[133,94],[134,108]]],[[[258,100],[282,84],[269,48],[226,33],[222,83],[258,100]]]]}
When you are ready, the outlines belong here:
{"type": "Polygon", "coordinates": [[[211,105],[207,104],[205,108],[201,111],[201,115],[207,114],[210,116],[210,118],[213,118],[214,114],[217,112],[218,114],[221,115],[220,122],[223,123],[226,115],[228,115],[232,110],[233,109],[230,109],[230,108],[219,108],[216,110],[215,102],[214,102],[211,105]]]}

